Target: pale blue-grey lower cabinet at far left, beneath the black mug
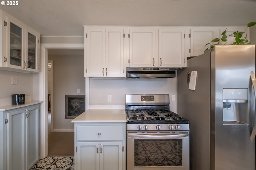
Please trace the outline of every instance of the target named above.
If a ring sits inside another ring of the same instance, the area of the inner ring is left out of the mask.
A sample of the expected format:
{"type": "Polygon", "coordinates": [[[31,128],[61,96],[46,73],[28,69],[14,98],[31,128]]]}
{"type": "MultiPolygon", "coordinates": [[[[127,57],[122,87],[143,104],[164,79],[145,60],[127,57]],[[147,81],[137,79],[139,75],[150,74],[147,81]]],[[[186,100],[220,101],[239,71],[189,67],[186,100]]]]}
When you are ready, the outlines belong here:
{"type": "Polygon", "coordinates": [[[29,170],[39,160],[39,105],[0,114],[0,170],[29,170]]]}

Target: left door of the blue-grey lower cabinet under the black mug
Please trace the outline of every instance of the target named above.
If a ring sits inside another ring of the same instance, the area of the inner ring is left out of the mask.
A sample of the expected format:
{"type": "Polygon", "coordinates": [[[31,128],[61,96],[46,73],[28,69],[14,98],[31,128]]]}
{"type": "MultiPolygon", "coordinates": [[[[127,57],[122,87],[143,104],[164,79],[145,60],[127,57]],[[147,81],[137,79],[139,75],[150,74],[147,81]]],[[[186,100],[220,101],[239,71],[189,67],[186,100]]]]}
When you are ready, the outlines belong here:
{"type": "Polygon", "coordinates": [[[26,170],[26,114],[23,111],[7,113],[7,169],[26,170]]]}

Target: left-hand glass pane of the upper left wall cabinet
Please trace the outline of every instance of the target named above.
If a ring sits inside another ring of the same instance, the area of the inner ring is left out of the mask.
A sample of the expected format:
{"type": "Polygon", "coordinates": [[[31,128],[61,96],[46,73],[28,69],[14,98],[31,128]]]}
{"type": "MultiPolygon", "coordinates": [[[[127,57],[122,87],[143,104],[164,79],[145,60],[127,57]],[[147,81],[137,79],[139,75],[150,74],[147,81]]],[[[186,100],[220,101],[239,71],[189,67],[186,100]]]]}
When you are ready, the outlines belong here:
{"type": "Polygon", "coordinates": [[[22,65],[22,28],[10,22],[10,65],[22,65]]]}

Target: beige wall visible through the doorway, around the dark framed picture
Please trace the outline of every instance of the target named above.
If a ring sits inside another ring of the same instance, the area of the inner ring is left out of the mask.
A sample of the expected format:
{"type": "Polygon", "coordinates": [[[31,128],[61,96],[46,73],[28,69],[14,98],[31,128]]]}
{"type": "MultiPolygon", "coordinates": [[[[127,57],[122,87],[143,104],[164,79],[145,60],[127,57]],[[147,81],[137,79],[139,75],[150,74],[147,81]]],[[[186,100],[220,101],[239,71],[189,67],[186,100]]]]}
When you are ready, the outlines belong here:
{"type": "Polygon", "coordinates": [[[76,89],[85,94],[84,50],[79,51],[80,55],[48,55],[53,60],[53,131],[74,130],[72,119],[65,119],[65,95],[78,95],[76,89]]]}

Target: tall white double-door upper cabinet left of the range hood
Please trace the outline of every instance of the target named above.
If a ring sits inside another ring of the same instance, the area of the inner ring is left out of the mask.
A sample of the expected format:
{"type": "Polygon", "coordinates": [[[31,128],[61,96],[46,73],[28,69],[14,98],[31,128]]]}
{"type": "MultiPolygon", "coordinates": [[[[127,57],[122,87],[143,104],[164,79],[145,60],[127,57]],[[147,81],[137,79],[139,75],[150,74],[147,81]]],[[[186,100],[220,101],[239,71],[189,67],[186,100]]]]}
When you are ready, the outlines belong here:
{"type": "Polygon", "coordinates": [[[123,30],[87,28],[85,32],[85,75],[123,77],[123,30]]]}

